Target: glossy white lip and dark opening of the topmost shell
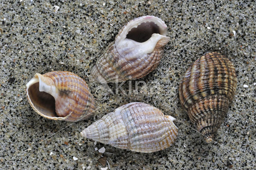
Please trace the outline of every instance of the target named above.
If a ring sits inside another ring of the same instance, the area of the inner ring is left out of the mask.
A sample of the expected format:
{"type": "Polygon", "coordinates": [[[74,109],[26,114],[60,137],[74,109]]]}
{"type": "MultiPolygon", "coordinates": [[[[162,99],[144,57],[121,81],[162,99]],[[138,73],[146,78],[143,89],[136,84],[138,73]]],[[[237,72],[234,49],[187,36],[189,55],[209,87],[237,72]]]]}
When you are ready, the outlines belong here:
{"type": "Polygon", "coordinates": [[[116,51],[120,56],[125,56],[130,60],[143,57],[154,51],[158,41],[164,39],[168,42],[170,37],[167,37],[166,34],[167,26],[160,18],[156,16],[135,18],[123,26],[116,36],[116,51]],[[136,30],[136,28],[138,29],[136,30]],[[128,35],[129,37],[127,37],[128,35]]]}

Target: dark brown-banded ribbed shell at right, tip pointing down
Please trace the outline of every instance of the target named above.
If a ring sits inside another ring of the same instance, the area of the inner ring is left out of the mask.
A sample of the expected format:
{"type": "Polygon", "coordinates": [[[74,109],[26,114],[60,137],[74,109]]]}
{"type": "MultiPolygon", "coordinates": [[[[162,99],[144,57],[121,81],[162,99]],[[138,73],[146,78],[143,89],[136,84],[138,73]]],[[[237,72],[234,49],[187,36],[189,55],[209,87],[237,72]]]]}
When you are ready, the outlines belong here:
{"type": "Polygon", "coordinates": [[[180,82],[180,102],[208,143],[226,116],[236,84],[234,65],[218,52],[198,58],[180,82]]]}

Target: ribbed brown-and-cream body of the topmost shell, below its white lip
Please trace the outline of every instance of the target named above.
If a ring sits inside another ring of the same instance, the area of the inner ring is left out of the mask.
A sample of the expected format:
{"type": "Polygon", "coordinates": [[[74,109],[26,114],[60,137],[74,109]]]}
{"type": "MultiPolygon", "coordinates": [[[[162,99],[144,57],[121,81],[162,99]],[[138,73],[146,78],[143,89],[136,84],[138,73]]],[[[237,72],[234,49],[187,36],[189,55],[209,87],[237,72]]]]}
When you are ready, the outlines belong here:
{"type": "Polygon", "coordinates": [[[112,42],[92,68],[92,76],[100,82],[123,82],[142,78],[158,66],[163,52],[164,47],[159,47],[150,54],[129,60],[118,54],[115,43],[112,42]]]}

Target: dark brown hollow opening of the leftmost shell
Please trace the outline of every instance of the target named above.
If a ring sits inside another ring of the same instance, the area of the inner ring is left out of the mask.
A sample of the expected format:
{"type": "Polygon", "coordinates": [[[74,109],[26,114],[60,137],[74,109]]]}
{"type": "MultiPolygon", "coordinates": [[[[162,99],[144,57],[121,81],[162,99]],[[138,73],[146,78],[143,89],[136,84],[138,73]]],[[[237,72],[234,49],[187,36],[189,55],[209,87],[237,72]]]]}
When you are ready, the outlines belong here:
{"type": "MultiPolygon", "coordinates": [[[[37,78],[38,79],[38,78],[37,78]]],[[[58,117],[55,112],[55,100],[51,94],[40,92],[39,80],[34,84],[30,84],[27,88],[29,100],[34,108],[47,117],[58,117]]]]}

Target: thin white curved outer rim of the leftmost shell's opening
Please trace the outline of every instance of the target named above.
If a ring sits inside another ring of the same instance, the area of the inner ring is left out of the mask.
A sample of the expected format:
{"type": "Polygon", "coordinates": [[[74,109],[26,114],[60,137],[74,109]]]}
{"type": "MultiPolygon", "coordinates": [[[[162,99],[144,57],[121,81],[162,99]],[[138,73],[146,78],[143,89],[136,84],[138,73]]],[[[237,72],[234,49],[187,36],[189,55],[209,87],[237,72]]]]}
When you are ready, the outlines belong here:
{"type": "MultiPolygon", "coordinates": [[[[29,94],[28,94],[28,89],[35,83],[38,83],[39,82],[39,88],[40,88],[40,83],[42,83],[43,80],[40,79],[40,77],[42,76],[42,74],[39,74],[39,73],[36,73],[34,78],[32,78],[27,84],[26,84],[26,95],[27,95],[27,98],[28,98],[28,101],[29,103],[31,104],[32,108],[35,110],[36,113],[38,113],[40,116],[43,116],[45,118],[48,118],[48,119],[52,119],[52,120],[66,120],[70,115],[68,114],[67,116],[65,117],[56,117],[56,116],[47,116],[45,114],[42,114],[42,112],[40,112],[33,104],[29,94]]],[[[42,88],[42,87],[41,87],[42,88]]],[[[39,90],[41,91],[41,90],[39,90]]]]}

